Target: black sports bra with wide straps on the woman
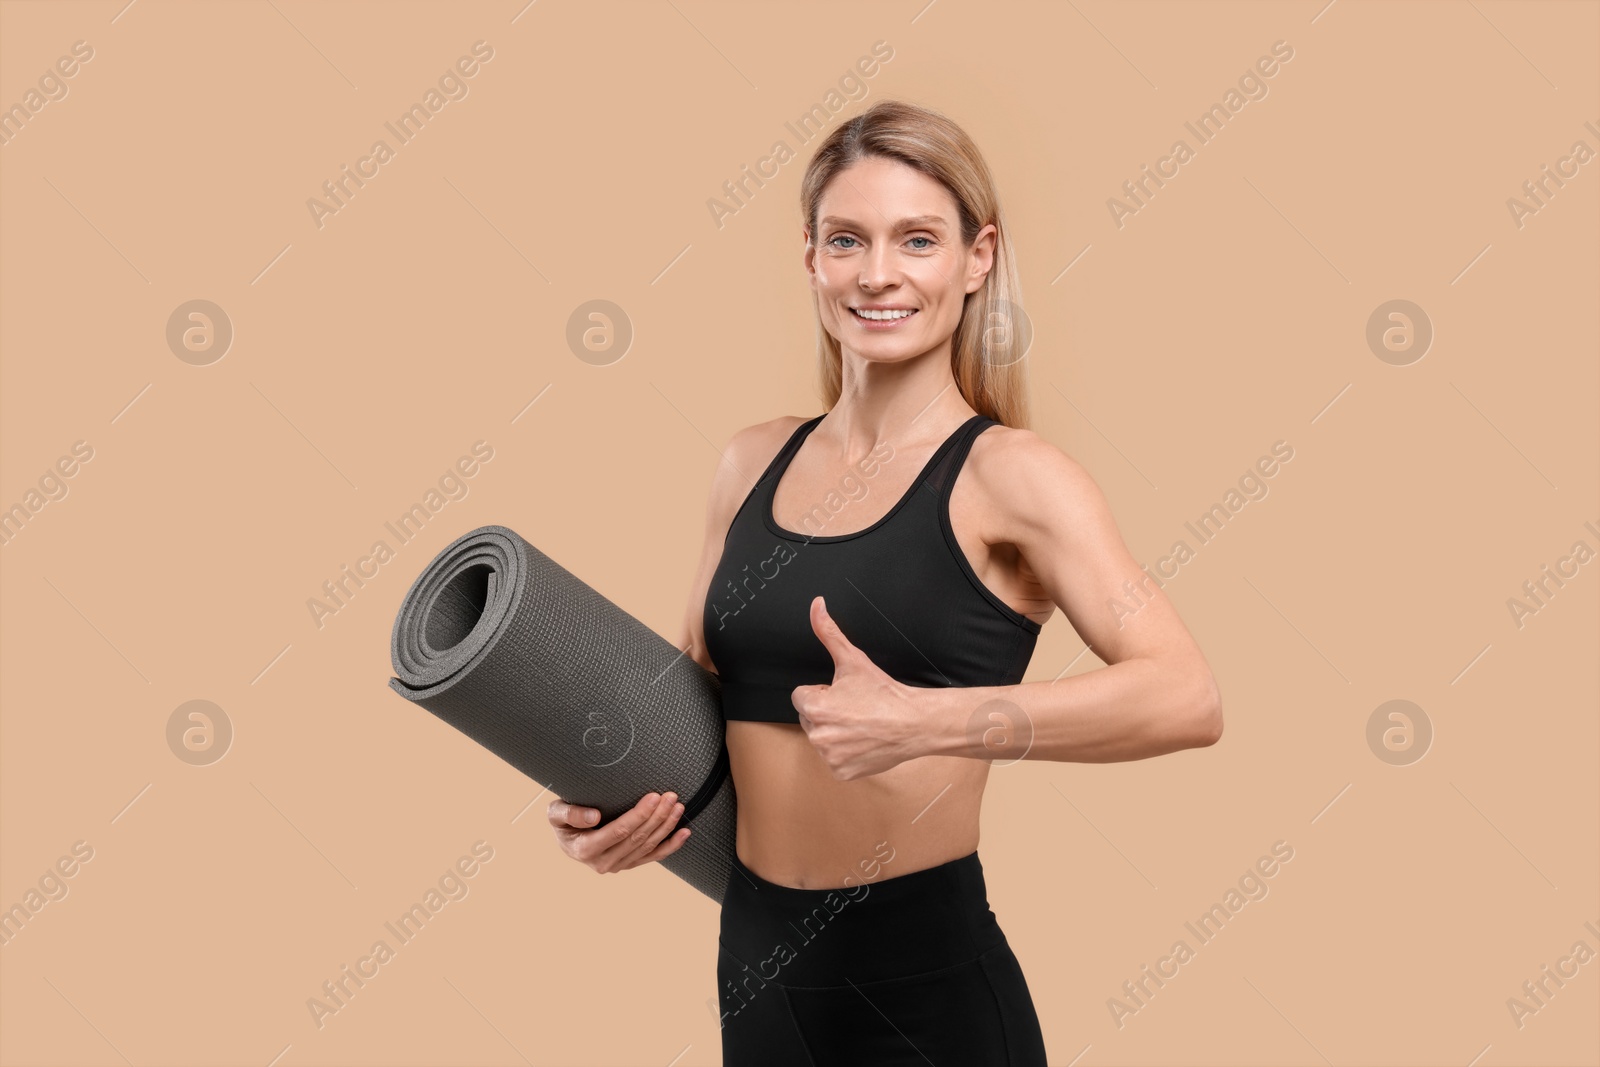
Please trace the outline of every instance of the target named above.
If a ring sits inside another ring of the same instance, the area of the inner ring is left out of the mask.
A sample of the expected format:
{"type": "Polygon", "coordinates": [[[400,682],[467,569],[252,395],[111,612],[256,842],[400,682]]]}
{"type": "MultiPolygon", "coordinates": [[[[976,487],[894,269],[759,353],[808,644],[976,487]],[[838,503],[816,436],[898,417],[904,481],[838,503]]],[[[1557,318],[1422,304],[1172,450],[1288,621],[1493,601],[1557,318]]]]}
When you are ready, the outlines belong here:
{"type": "Polygon", "coordinates": [[[723,717],[798,723],[794,688],[834,680],[834,659],[811,632],[816,595],[845,637],[904,685],[1019,683],[1040,625],[978,579],[950,530],[955,475],[994,419],[974,414],[963,422],[866,530],[826,533],[840,510],[848,515],[848,504],[872,491],[880,464],[893,462],[888,446],[806,514],[808,533],[782,530],[773,494],[821,421],[795,427],[744,498],[706,592],[706,649],[722,680],[723,717]]]}

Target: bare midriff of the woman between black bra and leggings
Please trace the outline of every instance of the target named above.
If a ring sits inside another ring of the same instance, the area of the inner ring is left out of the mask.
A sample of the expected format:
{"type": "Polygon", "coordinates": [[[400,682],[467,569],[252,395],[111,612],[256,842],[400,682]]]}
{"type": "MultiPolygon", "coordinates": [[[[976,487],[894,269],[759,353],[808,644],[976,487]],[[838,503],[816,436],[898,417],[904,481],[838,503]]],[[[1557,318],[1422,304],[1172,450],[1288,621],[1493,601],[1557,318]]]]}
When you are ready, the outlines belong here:
{"type": "Polygon", "coordinates": [[[987,760],[930,755],[838,781],[798,725],[731,720],[726,737],[739,859],[768,881],[837,889],[978,849],[987,760]]]}

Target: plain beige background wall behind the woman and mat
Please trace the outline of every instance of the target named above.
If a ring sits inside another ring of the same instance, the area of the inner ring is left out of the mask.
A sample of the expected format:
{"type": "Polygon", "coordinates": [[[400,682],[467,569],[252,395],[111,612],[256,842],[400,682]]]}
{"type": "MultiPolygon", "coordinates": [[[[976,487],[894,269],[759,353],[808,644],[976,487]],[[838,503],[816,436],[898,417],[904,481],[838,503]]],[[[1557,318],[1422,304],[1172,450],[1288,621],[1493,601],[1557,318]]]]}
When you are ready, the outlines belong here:
{"type": "MultiPolygon", "coordinates": [[[[995,769],[990,902],[1051,1064],[1595,1064],[1600,925],[1595,3],[0,5],[0,104],[94,50],[0,147],[0,904],[93,861],[0,949],[5,1064],[715,1064],[717,909],[565,859],[538,787],[387,688],[422,565],[506,523],[677,640],[715,448],[814,414],[803,146],[866,96],[966,126],[1016,237],[1034,429],[1141,561],[1274,442],[1291,462],[1168,584],[1227,731],[995,769]],[[493,61],[318,229],[306,200],[477,40],[493,61]],[[1274,42],[1294,58],[1118,229],[1109,197],[1274,42]],[[718,229],[778,139],[798,158],[718,229]],[[1070,269],[1067,269],[1070,264],[1070,269]],[[179,360],[216,302],[226,357],[179,360]],[[582,302],[632,322],[597,366],[582,302]],[[1381,304],[1434,323],[1376,358],[1381,304]],[[538,397],[533,406],[528,406],[538,397]],[[514,421],[515,419],[515,421],[514,421]],[[477,440],[424,536],[318,629],[323,581],[477,440]],[[168,747],[186,701],[234,728],[168,747]],[[1366,742],[1408,699],[1408,766],[1366,742]],[[538,798],[538,803],[534,803],[538,798]],[[530,806],[531,805],[531,806],[530,806]],[[318,1029],[306,1001],[474,841],[494,849],[318,1029]],[[1291,862],[1120,1029],[1107,1000],[1274,841],[1291,862]]],[[[1192,542],[1194,544],[1194,542],[1192,542]]],[[[1027,673],[1099,665],[1053,619],[1027,673]]]]}

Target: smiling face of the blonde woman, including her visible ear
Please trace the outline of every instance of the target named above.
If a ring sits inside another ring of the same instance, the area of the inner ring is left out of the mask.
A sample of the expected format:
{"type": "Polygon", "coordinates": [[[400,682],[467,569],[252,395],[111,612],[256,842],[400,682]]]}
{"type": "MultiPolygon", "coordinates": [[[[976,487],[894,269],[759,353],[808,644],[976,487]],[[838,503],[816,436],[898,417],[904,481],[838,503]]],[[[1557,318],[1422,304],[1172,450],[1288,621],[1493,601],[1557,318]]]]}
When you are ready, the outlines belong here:
{"type": "Polygon", "coordinates": [[[872,157],[840,171],[818,200],[805,266],[822,328],[845,354],[896,363],[949,355],[968,293],[994,264],[995,227],[962,243],[955,197],[933,178],[872,157]]]}

